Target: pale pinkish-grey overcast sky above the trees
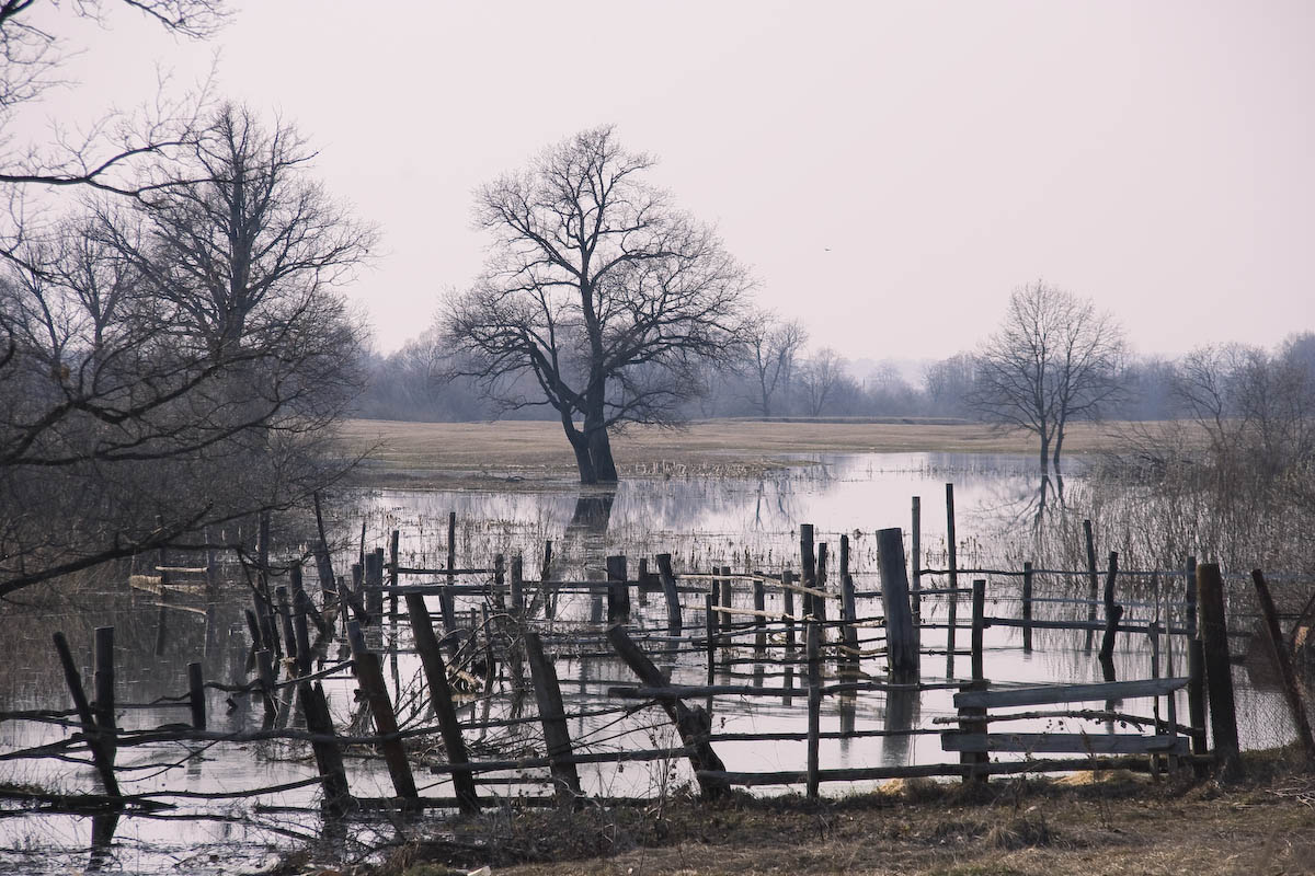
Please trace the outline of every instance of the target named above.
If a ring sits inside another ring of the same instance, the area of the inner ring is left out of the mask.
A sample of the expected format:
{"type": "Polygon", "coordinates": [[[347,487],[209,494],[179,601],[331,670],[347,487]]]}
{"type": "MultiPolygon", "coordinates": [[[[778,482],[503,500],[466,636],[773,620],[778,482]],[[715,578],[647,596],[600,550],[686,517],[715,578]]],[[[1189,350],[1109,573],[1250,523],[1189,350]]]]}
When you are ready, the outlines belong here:
{"type": "MultiPolygon", "coordinates": [[[[1009,292],[1090,296],[1143,353],[1315,328],[1315,3],[330,3],[208,43],[129,13],[41,112],[185,83],[295,121],[383,232],[387,352],[468,284],[472,190],[615,123],[757,296],[851,359],[970,348],[1009,292]]],[[[26,122],[25,122],[26,123],[26,122]]]]}

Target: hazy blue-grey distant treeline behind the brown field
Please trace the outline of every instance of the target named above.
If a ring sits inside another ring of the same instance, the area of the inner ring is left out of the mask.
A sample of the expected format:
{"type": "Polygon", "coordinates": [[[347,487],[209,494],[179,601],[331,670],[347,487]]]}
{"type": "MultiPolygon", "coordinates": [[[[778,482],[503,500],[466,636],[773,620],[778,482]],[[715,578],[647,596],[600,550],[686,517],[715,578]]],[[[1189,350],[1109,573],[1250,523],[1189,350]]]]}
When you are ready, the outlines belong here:
{"type": "MultiPolygon", "coordinates": [[[[384,420],[467,422],[494,416],[558,419],[548,407],[500,411],[480,386],[444,357],[431,335],[412,340],[400,351],[367,355],[368,382],[356,415],[384,420]]],[[[857,376],[830,349],[798,349],[786,356],[775,387],[767,393],[746,347],[739,368],[702,374],[702,394],[686,406],[689,419],[743,416],[935,416],[990,419],[974,405],[977,357],[963,352],[907,376],[894,364],[881,364],[857,376]]],[[[1132,357],[1120,370],[1122,393],[1101,410],[1106,419],[1165,420],[1197,418],[1202,394],[1216,395],[1220,414],[1241,411],[1251,391],[1264,383],[1278,389],[1291,383],[1315,385],[1315,332],[1293,335],[1272,351],[1241,344],[1198,348],[1178,359],[1132,357]]],[[[515,386],[526,398],[537,387],[525,380],[515,386]]],[[[1315,399],[1312,399],[1315,401],[1315,399]]]]}

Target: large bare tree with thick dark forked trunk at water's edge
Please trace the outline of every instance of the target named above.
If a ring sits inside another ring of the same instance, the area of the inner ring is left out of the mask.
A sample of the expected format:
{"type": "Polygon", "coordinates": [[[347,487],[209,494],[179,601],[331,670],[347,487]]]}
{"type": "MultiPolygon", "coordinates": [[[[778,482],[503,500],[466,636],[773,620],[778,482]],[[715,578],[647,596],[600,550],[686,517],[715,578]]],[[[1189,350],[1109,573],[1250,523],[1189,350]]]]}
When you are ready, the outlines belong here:
{"type": "Polygon", "coordinates": [[[439,317],[501,410],[558,411],[584,483],[617,479],[610,431],[680,420],[696,365],[730,357],[748,285],[710,227],[642,180],[652,163],[598,127],[485,185],[488,267],[439,317]],[[523,374],[537,391],[509,382],[523,374]]]}

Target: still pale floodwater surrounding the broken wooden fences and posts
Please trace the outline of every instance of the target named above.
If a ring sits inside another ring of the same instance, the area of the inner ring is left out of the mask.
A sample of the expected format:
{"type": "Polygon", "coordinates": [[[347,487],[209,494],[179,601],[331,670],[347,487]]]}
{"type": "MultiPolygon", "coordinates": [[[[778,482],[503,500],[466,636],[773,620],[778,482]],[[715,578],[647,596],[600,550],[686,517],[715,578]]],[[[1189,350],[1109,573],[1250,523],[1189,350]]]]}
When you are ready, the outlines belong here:
{"type": "MultiPolygon", "coordinates": [[[[639,557],[671,553],[676,571],[707,571],[714,565],[730,565],[735,571],[760,569],[798,569],[800,523],[813,523],[818,541],[830,542],[831,580],[836,580],[839,535],[851,538],[855,583],[860,594],[877,588],[874,532],[888,527],[907,531],[911,498],[920,496],[920,529],[923,567],[945,565],[945,483],[955,485],[956,546],[961,567],[992,567],[1009,553],[1018,556],[1026,542],[1036,514],[1038,478],[1030,458],[1015,456],[976,456],[940,453],[901,454],[835,454],[801,457],[800,465],[773,471],[763,478],[648,478],[629,481],[614,491],[581,491],[569,485],[525,490],[514,485],[509,491],[381,491],[360,496],[371,545],[384,545],[387,532],[401,533],[404,566],[437,567],[446,557],[447,515],[458,519],[456,557],[459,566],[489,566],[494,553],[519,552],[525,557],[526,579],[539,574],[543,542],[554,542],[554,578],[601,578],[604,558],[623,553],[635,563],[639,557]],[[1010,550],[1002,540],[1011,538],[1010,550]]],[[[1080,470],[1068,474],[1081,478],[1080,470]]],[[[346,537],[359,535],[360,516],[341,520],[339,532],[346,537]]],[[[1119,549],[1101,545],[1099,550],[1119,549]]],[[[1024,554],[1026,556],[1026,554],[1024,554]]],[[[341,569],[346,557],[335,557],[341,569]]],[[[994,567],[999,567],[998,565],[994,567]]],[[[631,574],[634,565],[631,565],[631,574]]],[[[965,575],[960,586],[967,586],[965,575]]],[[[1016,617],[1019,584],[1016,578],[988,578],[988,616],[1016,617]]],[[[1152,587],[1147,579],[1135,590],[1120,590],[1120,602],[1128,603],[1124,623],[1161,620],[1180,625],[1184,583],[1181,578],[1161,578],[1152,587]]],[[[404,579],[405,583],[405,579],[404,579]]],[[[926,578],[924,587],[943,584],[943,579],[926,578]]],[[[832,584],[834,586],[834,584],[832,584]]],[[[1131,584],[1130,584],[1131,587],[1131,584]]],[[[533,584],[531,584],[533,588],[533,584]]],[[[1036,595],[1049,599],[1085,596],[1081,578],[1039,577],[1036,595]]],[[[634,599],[634,598],[633,598],[634,599]]],[[[483,602],[483,600],[480,600],[483,602]]],[[[247,633],[242,617],[246,596],[235,591],[203,612],[168,612],[168,630],[163,654],[156,657],[159,609],[153,596],[125,594],[122,586],[107,596],[87,596],[78,605],[60,613],[46,615],[29,624],[26,634],[11,644],[7,655],[11,670],[0,679],[0,711],[66,709],[68,697],[54,659],[49,634],[63,629],[72,644],[75,658],[84,662],[83,676],[89,682],[92,629],[114,625],[118,663],[117,696],[120,703],[156,703],[159,697],[178,696],[187,690],[185,663],[201,661],[206,680],[242,684],[246,674],[247,633]]],[[[701,598],[685,600],[686,628],[702,629],[701,598]],[[693,608],[700,605],[700,608],[693,608]]],[[[750,607],[751,595],[738,590],[735,604],[750,607]]],[[[459,599],[458,608],[476,608],[473,599],[459,599]]],[[[665,624],[665,609],[658,595],[635,603],[635,621],[650,628],[665,624]]],[[[781,598],[769,590],[768,611],[781,611],[781,598]]],[[[437,605],[431,611],[438,615],[437,605]]],[[[547,625],[544,641],[550,650],[555,636],[579,637],[597,626],[590,620],[600,616],[598,598],[564,594],[555,620],[547,625]]],[[[859,616],[880,615],[880,600],[861,598],[859,616]]],[[[923,602],[923,620],[943,623],[947,616],[943,599],[923,602]]],[[[970,600],[959,607],[965,624],[970,600]]],[[[1039,603],[1036,617],[1082,617],[1085,605],[1055,602],[1039,603]]],[[[880,630],[867,629],[860,641],[868,647],[880,646],[880,630]]],[[[418,662],[406,653],[409,636],[385,626],[384,642],[397,642],[402,653],[387,661],[393,700],[398,704],[405,726],[433,724],[418,678],[418,662]]],[[[1094,649],[1084,633],[1036,630],[1031,653],[1022,650],[1022,630],[993,626],[986,630],[986,676],[993,682],[1088,682],[1102,680],[1094,649]]],[[[748,640],[746,640],[747,642],[748,640]]],[[[1157,653],[1148,636],[1122,634],[1115,653],[1118,678],[1148,678],[1185,674],[1181,637],[1161,637],[1157,653]],[[1155,666],[1153,666],[1155,663],[1155,666]]],[[[943,630],[926,630],[923,646],[945,650],[943,630]]],[[[967,649],[968,632],[959,632],[959,649],[967,649]]],[[[661,662],[660,655],[659,658],[661,662]]],[[[736,733],[803,733],[807,725],[806,691],[802,676],[789,668],[753,663],[751,647],[742,647],[718,658],[714,666],[717,683],[751,684],[782,690],[780,696],[719,697],[713,704],[713,726],[717,734],[736,733]]],[[[864,671],[881,678],[882,661],[868,658],[864,671]]],[[[675,683],[702,684],[707,679],[706,658],[700,653],[681,654],[671,665],[675,683]]],[[[923,657],[924,680],[944,680],[951,667],[942,654],[923,657]]],[[[952,675],[969,674],[968,657],[957,657],[952,675]]],[[[609,687],[633,686],[635,678],[618,661],[606,655],[606,644],[563,647],[558,675],[568,712],[597,709],[609,687]]],[[[1239,716],[1244,745],[1262,747],[1286,741],[1290,724],[1276,691],[1251,684],[1247,672],[1237,667],[1239,716]]],[[[501,691],[506,691],[504,684],[501,691]]],[[[346,679],[326,683],[330,708],[339,732],[351,721],[356,707],[351,683],[346,679]]],[[[534,714],[531,704],[517,697],[497,695],[472,699],[460,707],[467,722],[489,718],[534,714]]],[[[611,700],[611,705],[617,701],[611,700]]],[[[707,705],[706,701],[704,701],[707,705]]],[[[245,695],[229,696],[209,692],[212,730],[251,730],[262,721],[262,709],[245,695]]],[[[1180,695],[1174,707],[1178,721],[1186,721],[1186,699],[1180,695]]],[[[1166,717],[1166,700],[1136,700],[1120,709],[1151,714],[1160,709],[1166,717]]],[[[943,753],[936,717],[955,714],[948,691],[927,691],[920,696],[886,696],[863,692],[856,696],[831,696],[823,701],[822,730],[864,732],[902,730],[890,737],[857,737],[823,739],[823,768],[861,766],[899,766],[910,763],[953,763],[957,754],[943,753]]],[[[185,722],[188,711],[175,704],[156,703],[151,708],[124,711],[124,728],[150,728],[167,722],[185,722]]],[[[1052,720],[1038,726],[1015,726],[1018,730],[1051,729],[1063,732],[1126,732],[1123,728],[1091,725],[1078,721],[1052,720]]],[[[679,745],[660,709],[647,708],[633,716],[615,714],[581,717],[569,722],[572,739],[589,751],[654,749],[679,745]]],[[[30,746],[66,738],[68,728],[30,721],[0,722],[0,756],[30,746]]],[[[529,722],[509,729],[467,732],[467,743],[475,759],[500,756],[497,753],[519,745],[542,746],[538,725],[529,722]]],[[[802,770],[802,741],[714,741],[714,749],[731,771],[802,770]]],[[[154,791],[241,792],[256,787],[293,783],[316,775],[308,746],[297,743],[249,742],[203,745],[151,745],[122,749],[118,756],[125,793],[154,791]]],[[[84,760],[84,754],[79,753],[84,760]]],[[[373,758],[350,758],[348,781],[358,796],[391,796],[387,772],[373,758]]],[[[485,796],[518,793],[540,795],[547,788],[529,774],[506,774],[502,784],[481,785],[485,796]]],[[[416,767],[422,795],[447,796],[451,785],[442,776],[416,767]]],[[[652,796],[672,791],[692,780],[681,759],[654,763],[597,764],[580,767],[584,789],[602,796],[652,796]]],[[[97,789],[95,771],[87,763],[55,759],[0,760],[0,780],[70,792],[97,789]]],[[[846,793],[863,785],[836,783],[823,785],[823,793],[846,793]]],[[[785,788],[761,788],[761,793],[780,793],[785,788]]],[[[184,872],[220,873],[255,871],[274,860],[279,851],[300,844],[313,844],[325,858],[355,860],[379,848],[423,831],[423,821],[380,818],[376,822],[352,822],[346,826],[325,825],[316,801],[316,785],[267,795],[260,799],[197,800],[170,799],[175,809],[153,817],[122,816],[116,822],[108,817],[54,816],[34,813],[9,805],[0,810],[0,869],[5,872],[57,873],[82,869],[105,872],[184,872]]]]}

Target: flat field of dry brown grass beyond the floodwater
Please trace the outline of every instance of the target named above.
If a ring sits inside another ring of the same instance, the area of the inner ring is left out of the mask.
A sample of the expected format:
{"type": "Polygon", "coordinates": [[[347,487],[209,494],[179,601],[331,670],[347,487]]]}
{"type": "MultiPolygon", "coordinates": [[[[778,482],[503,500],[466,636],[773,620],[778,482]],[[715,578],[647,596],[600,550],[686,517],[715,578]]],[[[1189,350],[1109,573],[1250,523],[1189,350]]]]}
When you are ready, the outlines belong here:
{"type": "MultiPolygon", "coordinates": [[[[1072,427],[1065,452],[1120,447],[1119,423],[1072,427]]],[[[575,460],[550,422],[401,423],[348,420],[343,445],[370,453],[358,482],[371,486],[476,486],[479,482],[569,479],[575,460]]],[[[1024,432],[940,422],[707,420],[682,429],[634,428],[614,440],[622,475],[751,474],[790,453],[960,452],[1036,453],[1024,432]]]]}

